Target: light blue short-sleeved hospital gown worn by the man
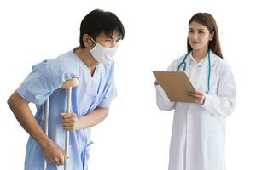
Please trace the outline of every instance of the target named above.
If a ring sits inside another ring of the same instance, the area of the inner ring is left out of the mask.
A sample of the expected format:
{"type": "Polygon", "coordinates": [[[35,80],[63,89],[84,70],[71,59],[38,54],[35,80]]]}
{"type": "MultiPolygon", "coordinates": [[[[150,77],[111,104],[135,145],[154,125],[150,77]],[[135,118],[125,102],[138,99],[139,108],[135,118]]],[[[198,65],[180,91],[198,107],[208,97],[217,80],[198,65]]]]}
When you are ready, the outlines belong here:
{"type": "MultiPolygon", "coordinates": [[[[77,77],[79,86],[73,88],[73,112],[78,117],[84,116],[97,107],[108,107],[116,97],[113,81],[113,62],[96,66],[93,77],[84,62],[73,53],[73,50],[55,59],[44,60],[33,65],[32,72],[20,84],[17,92],[29,102],[36,104],[35,115],[38,123],[44,125],[44,101],[49,98],[49,137],[63,149],[65,131],[61,126],[61,112],[66,108],[67,90],[60,89],[63,82],[77,77]]],[[[68,168],[71,170],[87,169],[89,158],[90,128],[70,133],[68,168]]],[[[43,152],[38,143],[30,137],[26,146],[26,170],[42,170],[43,152]]],[[[48,170],[64,169],[49,163],[48,170]]]]}

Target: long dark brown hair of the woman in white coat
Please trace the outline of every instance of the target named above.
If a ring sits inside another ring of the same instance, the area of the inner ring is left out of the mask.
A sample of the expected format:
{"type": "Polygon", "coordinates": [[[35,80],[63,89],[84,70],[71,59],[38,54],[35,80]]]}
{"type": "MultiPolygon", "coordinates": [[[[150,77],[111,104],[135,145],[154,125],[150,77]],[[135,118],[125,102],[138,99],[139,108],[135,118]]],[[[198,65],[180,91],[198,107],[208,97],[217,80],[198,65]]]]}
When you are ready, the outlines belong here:
{"type": "MultiPolygon", "coordinates": [[[[197,13],[194,16],[192,16],[192,18],[189,20],[189,25],[193,21],[198,22],[203,26],[206,26],[210,33],[214,32],[212,41],[209,42],[208,48],[210,48],[212,52],[214,54],[217,54],[221,59],[224,59],[221,53],[221,48],[218,40],[218,26],[212,15],[207,13],[197,13]]],[[[189,44],[189,39],[187,39],[187,47],[188,52],[192,50],[189,44]]]]}

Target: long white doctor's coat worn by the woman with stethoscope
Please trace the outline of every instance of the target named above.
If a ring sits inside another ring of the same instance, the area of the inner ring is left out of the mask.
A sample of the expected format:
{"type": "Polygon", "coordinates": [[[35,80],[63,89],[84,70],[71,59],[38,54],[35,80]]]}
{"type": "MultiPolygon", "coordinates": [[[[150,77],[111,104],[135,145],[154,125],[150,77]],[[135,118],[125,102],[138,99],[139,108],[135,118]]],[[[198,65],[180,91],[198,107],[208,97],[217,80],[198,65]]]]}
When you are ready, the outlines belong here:
{"type": "MultiPolygon", "coordinates": [[[[160,85],[155,86],[156,103],[160,110],[174,110],[169,170],[225,169],[225,122],[235,107],[236,86],[230,65],[212,51],[210,53],[210,92],[206,94],[203,105],[172,102],[160,85]]],[[[191,68],[194,59],[189,54],[186,71],[195,88],[205,92],[208,77],[207,57],[191,68]]],[[[174,60],[168,71],[177,71],[183,58],[184,56],[174,60]]]]}

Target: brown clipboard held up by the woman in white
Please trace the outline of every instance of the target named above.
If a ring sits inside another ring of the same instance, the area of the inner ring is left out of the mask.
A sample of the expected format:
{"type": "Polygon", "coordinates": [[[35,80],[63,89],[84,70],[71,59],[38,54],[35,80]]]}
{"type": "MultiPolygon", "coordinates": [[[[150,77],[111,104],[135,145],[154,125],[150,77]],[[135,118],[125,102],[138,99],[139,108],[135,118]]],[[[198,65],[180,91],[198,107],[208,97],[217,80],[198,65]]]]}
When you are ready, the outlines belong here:
{"type": "Polygon", "coordinates": [[[171,101],[193,102],[189,92],[195,93],[195,88],[184,71],[153,71],[153,73],[171,101]]]}

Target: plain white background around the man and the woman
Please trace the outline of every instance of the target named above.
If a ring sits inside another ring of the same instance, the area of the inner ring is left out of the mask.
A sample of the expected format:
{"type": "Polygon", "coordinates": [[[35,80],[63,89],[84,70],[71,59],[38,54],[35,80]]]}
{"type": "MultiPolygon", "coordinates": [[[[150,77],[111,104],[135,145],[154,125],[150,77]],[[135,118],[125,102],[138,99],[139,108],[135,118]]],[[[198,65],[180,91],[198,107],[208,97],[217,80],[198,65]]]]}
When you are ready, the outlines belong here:
{"type": "MultiPolygon", "coordinates": [[[[79,45],[80,21],[95,8],[112,11],[125,26],[116,57],[118,98],[108,118],[92,128],[91,170],[165,170],[172,112],[155,105],[154,70],[185,54],[188,22],[212,14],[236,78],[236,111],[227,119],[226,167],[256,169],[255,5],[215,1],[14,1],[0,3],[0,168],[23,169],[27,133],[6,104],[32,65],[79,45]]],[[[35,108],[32,105],[32,110],[35,108]]]]}

